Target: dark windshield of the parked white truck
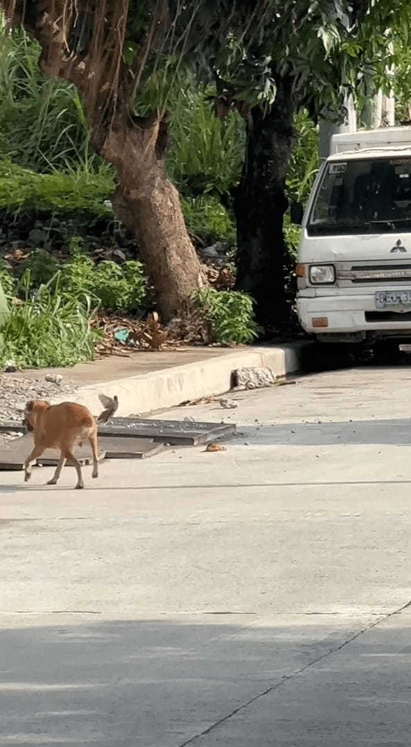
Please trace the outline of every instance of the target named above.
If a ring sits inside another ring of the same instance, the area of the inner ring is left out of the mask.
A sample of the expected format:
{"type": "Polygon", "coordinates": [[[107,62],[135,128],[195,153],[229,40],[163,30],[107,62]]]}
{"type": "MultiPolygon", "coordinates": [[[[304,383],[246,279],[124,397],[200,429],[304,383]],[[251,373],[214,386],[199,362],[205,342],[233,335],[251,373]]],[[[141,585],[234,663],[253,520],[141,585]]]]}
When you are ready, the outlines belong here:
{"type": "Polygon", "coordinates": [[[309,217],[315,234],[411,232],[411,158],[331,161],[309,217]]]}

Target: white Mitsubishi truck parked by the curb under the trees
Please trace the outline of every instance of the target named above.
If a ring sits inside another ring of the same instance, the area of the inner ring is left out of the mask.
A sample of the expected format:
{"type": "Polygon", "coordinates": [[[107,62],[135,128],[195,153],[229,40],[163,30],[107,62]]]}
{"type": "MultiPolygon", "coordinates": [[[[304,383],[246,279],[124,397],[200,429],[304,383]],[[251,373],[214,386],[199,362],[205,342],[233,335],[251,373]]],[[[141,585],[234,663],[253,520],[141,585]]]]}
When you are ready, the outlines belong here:
{"type": "Polygon", "coordinates": [[[411,341],[411,127],[335,135],[303,214],[297,313],[325,342],[411,341]]]}

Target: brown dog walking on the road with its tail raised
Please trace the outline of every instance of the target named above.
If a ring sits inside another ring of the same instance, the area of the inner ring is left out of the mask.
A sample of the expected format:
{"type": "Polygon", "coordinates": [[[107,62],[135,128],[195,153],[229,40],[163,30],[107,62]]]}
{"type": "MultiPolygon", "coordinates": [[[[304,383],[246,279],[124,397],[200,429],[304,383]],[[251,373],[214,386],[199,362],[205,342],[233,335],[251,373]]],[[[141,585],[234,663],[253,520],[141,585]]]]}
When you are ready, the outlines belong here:
{"type": "Polygon", "coordinates": [[[60,449],[61,455],[55,474],[47,485],[56,485],[66,459],[70,459],[77,470],[76,488],[84,488],[81,465],[73,449],[81,441],[89,441],[93,453],[93,477],[99,477],[97,426],[87,407],[75,402],[50,405],[44,400],[30,400],[25,406],[24,421],[33,430],[34,449],[25,460],[25,482],[31,477],[31,462],[45,449],[60,449]]]}

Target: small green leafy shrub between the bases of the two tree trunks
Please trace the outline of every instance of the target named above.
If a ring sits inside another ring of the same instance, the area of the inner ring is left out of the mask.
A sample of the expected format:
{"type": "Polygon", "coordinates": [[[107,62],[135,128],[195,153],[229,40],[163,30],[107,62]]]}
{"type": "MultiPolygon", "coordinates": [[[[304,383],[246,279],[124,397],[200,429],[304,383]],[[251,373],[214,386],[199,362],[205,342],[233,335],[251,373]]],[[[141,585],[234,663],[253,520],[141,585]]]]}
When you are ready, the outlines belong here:
{"type": "Polygon", "coordinates": [[[194,291],[193,300],[203,310],[214,342],[241,344],[257,337],[259,328],[254,320],[253,300],[247,294],[200,288],[194,291]]]}

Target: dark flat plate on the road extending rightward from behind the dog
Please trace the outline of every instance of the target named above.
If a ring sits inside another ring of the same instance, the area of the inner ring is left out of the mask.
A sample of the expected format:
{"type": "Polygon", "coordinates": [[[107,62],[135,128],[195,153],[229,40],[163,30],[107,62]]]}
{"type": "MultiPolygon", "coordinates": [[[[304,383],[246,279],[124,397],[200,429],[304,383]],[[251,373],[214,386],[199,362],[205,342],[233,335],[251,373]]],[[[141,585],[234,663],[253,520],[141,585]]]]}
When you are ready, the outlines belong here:
{"type": "Polygon", "coordinates": [[[99,436],[137,436],[152,438],[173,445],[205,444],[217,438],[232,436],[235,425],[230,423],[200,423],[197,421],[144,420],[141,418],[113,418],[99,426],[99,436]]]}

